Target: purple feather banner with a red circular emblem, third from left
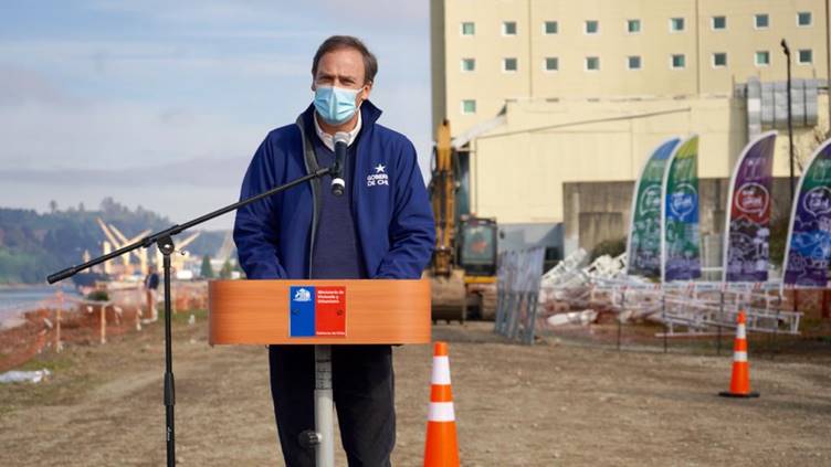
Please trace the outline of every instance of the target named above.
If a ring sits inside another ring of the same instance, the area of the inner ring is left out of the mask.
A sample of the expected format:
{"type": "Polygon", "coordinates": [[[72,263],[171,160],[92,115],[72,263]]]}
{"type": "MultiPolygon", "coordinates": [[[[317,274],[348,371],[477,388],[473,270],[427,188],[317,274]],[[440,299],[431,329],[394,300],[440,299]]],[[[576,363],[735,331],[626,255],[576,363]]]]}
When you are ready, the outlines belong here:
{"type": "Polygon", "coordinates": [[[770,188],[776,131],[750,141],[730,178],[724,235],[723,280],[764,283],[770,258],[770,188]]]}

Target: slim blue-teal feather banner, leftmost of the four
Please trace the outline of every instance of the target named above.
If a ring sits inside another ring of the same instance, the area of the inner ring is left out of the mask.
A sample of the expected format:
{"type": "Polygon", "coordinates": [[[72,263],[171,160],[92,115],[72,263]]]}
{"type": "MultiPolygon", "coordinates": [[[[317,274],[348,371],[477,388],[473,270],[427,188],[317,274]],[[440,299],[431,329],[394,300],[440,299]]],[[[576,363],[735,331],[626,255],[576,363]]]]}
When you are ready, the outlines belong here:
{"type": "Polygon", "coordinates": [[[661,277],[661,184],[666,160],[681,139],[662,142],[641,169],[632,193],[631,222],[627,242],[627,274],[661,277]]]}

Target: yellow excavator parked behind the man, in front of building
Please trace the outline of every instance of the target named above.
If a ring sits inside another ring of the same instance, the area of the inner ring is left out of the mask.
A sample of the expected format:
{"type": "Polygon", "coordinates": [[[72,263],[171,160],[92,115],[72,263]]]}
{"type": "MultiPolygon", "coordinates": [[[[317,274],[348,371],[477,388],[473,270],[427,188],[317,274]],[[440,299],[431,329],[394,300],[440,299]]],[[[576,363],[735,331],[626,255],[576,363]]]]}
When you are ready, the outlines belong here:
{"type": "Polygon", "coordinates": [[[432,320],[493,320],[498,227],[495,219],[459,212],[459,153],[450,135],[445,119],[436,129],[428,187],[435,220],[435,251],[425,272],[432,287],[432,320]]]}

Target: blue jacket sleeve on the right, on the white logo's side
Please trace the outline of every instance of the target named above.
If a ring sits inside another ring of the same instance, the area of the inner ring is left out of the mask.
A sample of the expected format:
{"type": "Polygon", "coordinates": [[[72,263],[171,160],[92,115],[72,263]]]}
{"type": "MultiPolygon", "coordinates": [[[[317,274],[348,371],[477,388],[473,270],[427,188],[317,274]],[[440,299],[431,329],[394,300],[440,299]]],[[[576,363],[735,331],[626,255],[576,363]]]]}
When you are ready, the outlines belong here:
{"type": "Polygon", "coordinates": [[[389,224],[390,250],[376,278],[418,279],[435,245],[435,223],[416,148],[407,141],[396,171],[395,206],[389,224]]]}

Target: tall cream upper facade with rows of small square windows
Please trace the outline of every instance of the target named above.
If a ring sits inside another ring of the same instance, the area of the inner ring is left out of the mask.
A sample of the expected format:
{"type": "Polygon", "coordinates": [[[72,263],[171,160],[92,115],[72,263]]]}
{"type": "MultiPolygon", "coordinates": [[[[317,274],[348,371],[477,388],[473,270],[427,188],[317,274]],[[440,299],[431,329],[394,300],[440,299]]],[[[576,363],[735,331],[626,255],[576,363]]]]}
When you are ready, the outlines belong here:
{"type": "Polygon", "coordinates": [[[729,94],[828,76],[824,0],[431,0],[433,127],[506,100],[729,94]]]}

